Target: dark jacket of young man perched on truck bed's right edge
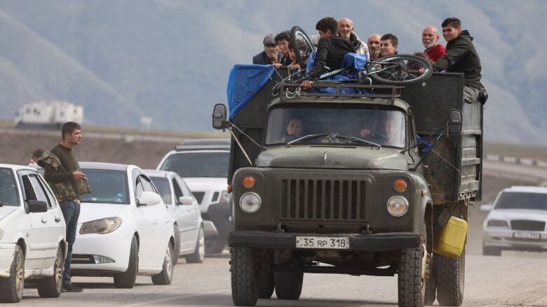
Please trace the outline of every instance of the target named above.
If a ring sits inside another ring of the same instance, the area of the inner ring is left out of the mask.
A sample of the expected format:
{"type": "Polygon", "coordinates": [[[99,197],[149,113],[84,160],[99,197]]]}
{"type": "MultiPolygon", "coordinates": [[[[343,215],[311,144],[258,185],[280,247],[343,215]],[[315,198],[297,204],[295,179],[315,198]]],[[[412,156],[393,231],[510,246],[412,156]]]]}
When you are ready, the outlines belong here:
{"type": "Polygon", "coordinates": [[[464,84],[481,88],[480,84],[480,59],[473,45],[473,37],[467,30],[461,31],[454,41],[446,45],[446,53],[433,67],[436,71],[446,69],[448,73],[464,73],[464,84]]]}

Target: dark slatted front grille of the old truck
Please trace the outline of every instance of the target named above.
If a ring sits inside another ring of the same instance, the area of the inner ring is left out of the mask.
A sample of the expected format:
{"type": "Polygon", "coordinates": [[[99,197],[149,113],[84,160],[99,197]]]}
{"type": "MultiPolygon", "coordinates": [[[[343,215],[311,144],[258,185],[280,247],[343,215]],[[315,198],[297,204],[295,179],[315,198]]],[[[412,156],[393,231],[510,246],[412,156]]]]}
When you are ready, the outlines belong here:
{"type": "Polygon", "coordinates": [[[281,180],[285,220],[364,220],[363,180],[281,180]]]}

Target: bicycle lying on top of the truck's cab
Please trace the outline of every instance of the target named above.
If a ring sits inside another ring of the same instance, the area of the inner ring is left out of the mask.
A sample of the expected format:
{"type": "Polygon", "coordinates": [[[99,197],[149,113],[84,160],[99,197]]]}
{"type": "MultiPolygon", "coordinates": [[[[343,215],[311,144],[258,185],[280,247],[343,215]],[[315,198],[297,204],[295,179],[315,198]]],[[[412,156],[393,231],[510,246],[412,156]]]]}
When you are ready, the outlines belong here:
{"type": "MultiPolygon", "coordinates": [[[[300,46],[299,50],[295,50],[297,62],[306,63],[311,55],[311,52],[316,51],[315,46],[311,43],[311,39],[306,32],[298,26],[292,27],[290,30],[290,38],[295,46],[300,46]]],[[[326,71],[320,75],[319,80],[324,80],[330,76],[339,73],[347,73],[349,69],[337,69],[335,71],[326,71]]],[[[302,72],[302,71],[299,71],[302,72]]],[[[419,83],[431,76],[433,67],[426,59],[414,55],[389,55],[379,59],[370,60],[365,65],[361,73],[361,78],[356,80],[344,80],[344,83],[363,83],[372,80],[384,85],[410,85],[419,83]],[[423,68],[423,72],[420,69],[423,68]]],[[[301,82],[306,78],[299,78],[295,82],[301,82]]]]}

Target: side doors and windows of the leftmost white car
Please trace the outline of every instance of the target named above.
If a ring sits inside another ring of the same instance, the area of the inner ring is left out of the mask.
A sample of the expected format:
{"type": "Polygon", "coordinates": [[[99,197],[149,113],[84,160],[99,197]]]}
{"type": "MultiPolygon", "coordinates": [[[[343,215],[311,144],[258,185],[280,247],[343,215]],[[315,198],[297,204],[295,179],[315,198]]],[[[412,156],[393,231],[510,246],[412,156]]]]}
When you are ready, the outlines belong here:
{"type": "MultiPolygon", "coordinates": [[[[51,203],[46,196],[46,190],[40,183],[38,174],[33,171],[20,172],[20,180],[25,197],[25,205],[29,201],[46,201],[48,208],[51,203]]],[[[28,212],[28,210],[27,210],[28,212]]],[[[27,232],[27,255],[25,269],[43,269],[48,267],[50,259],[55,259],[57,242],[53,238],[53,215],[48,210],[41,213],[28,213],[30,229],[27,232]],[[47,260],[47,261],[46,261],[47,260]]]]}

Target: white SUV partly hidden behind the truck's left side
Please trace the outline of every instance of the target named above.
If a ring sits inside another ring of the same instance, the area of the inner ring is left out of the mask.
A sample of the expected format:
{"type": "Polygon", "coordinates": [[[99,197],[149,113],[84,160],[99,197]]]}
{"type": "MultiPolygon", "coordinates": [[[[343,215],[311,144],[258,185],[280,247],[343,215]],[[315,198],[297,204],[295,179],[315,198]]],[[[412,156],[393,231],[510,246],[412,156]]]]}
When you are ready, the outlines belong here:
{"type": "Polygon", "coordinates": [[[228,185],[229,139],[184,140],[161,159],[157,169],[184,178],[205,223],[205,252],[222,252],[231,231],[228,185]]]}

